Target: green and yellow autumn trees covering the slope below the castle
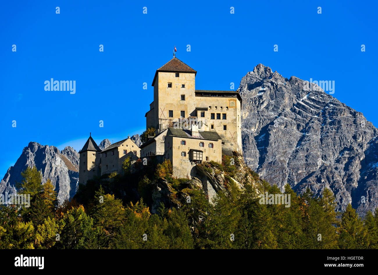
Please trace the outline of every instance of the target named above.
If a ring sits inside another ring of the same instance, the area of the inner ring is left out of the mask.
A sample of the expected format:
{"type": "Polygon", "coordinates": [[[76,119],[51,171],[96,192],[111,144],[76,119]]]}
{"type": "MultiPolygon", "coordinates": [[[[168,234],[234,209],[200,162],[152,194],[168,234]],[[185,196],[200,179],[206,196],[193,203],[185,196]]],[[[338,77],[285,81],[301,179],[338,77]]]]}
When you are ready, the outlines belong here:
{"type": "MultiPolygon", "coordinates": [[[[229,158],[225,159],[227,163],[229,158]]],[[[224,165],[222,169],[227,170],[224,165]]],[[[41,185],[39,172],[28,168],[21,187],[33,193],[30,207],[0,205],[0,249],[378,248],[378,209],[362,220],[348,205],[338,218],[329,189],[321,197],[310,190],[299,196],[289,185],[281,193],[259,178],[240,189],[227,172],[225,189],[209,202],[192,180],[175,179],[171,173],[166,160],[155,171],[98,177],[57,207],[51,182],[41,185]],[[150,206],[158,176],[165,177],[172,197],[153,214],[150,206]],[[122,189],[125,186],[130,187],[128,192],[122,189]],[[140,200],[132,201],[123,192],[138,193],[140,200]],[[265,198],[261,201],[259,195],[266,192],[290,195],[290,207],[262,203],[265,198]]],[[[252,171],[247,173],[254,179],[252,171]]]]}

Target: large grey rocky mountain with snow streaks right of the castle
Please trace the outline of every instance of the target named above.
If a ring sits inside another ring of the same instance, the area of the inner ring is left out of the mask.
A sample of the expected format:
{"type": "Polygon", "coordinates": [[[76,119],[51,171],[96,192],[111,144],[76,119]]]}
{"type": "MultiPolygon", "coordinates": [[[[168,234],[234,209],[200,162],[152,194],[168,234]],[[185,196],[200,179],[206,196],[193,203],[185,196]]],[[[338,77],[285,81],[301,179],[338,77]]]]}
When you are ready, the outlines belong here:
{"type": "Polygon", "coordinates": [[[330,188],[338,210],[351,203],[364,214],[378,206],[378,131],[362,113],[262,64],[243,77],[239,92],[243,156],[263,179],[299,193],[330,188]]]}

